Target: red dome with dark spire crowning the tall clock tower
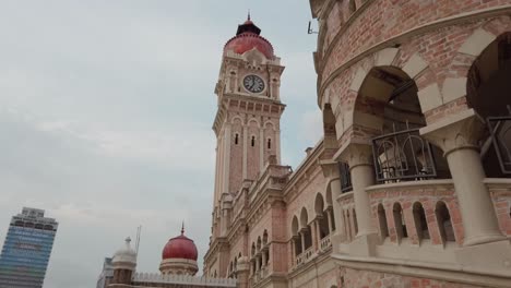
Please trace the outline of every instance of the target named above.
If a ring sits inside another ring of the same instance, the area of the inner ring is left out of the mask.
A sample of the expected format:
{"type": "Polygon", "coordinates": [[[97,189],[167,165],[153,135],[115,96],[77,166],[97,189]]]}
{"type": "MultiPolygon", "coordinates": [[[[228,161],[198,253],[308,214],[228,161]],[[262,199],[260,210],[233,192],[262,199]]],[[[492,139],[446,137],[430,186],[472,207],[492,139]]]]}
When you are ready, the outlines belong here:
{"type": "Polygon", "coordinates": [[[261,29],[250,20],[250,14],[247,21],[238,25],[236,36],[230,38],[224,47],[224,51],[233,50],[236,53],[242,55],[253,48],[262,52],[268,59],[273,59],[273,46],[264,37],[260,36],[261,29]]]}

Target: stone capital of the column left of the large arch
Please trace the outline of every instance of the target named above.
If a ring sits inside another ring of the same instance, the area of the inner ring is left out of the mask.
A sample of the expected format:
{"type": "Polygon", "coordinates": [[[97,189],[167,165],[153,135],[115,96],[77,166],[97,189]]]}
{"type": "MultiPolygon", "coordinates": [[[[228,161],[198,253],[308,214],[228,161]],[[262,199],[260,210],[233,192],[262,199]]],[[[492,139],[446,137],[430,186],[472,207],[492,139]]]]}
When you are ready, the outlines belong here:
{"type": "Polygon", "coordinates": [[[356,166],[372,166],[372,145],[370,142],[355,142],[344,144],[334,155],[334,159],[349,165],[349,169],[356,166]]]}

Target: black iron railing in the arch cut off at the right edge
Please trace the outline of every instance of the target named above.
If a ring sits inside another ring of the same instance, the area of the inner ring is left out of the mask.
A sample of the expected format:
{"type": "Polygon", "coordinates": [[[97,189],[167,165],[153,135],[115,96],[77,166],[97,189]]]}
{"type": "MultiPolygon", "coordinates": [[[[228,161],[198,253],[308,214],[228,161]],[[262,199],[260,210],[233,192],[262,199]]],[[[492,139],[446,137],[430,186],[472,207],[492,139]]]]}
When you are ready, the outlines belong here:
{"type": "Polygon", "coordinates": [[[487,118],[491,142],[504,175],[511,175],[511,109],[508,107],[508,110],[509,116],[487,118]]]}

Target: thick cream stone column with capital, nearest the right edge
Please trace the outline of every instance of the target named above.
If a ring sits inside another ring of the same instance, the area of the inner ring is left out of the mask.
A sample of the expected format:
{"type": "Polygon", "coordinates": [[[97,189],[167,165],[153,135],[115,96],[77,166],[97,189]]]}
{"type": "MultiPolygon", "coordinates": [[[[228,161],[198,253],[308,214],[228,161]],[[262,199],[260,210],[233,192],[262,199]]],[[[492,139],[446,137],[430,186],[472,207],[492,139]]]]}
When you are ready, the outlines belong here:
{"type": "Polygon", "coordinates": [[[506,239],[500,232],[477,141],[484,121],[473,109],[420,129],[420,134],[439,146],[451,171],[464,228],[464,245],[506,239]]]}

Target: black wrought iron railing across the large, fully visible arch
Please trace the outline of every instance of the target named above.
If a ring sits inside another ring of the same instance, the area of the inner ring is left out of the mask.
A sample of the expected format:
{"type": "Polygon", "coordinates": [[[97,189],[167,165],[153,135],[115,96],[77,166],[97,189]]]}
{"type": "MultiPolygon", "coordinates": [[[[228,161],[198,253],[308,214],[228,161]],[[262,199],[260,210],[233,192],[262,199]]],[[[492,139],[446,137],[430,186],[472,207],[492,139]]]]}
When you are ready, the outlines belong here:
{"type": "Polygon", "coordinates": [[[375,137],[372,155],[378,182],[437,177],[432,147],[419,135],[418,129],[375,137]]]}

